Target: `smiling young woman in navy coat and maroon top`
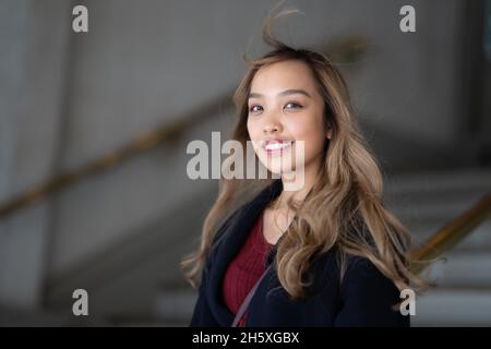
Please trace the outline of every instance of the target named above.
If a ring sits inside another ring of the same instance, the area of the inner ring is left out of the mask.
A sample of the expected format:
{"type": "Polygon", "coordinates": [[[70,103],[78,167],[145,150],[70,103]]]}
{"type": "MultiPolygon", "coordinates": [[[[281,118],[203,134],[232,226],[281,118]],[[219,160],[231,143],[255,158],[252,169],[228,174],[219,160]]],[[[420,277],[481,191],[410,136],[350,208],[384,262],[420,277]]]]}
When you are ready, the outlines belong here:
{"type": "Polygon", "coordinates": [[[182,262],[193,286],[201,274],[190,325],[409,326],[400,290],[422,284],[408,269],[407,230],[383,206],[347,86],[323,55],[273,38],[273,21],[263,39],[274,50],[251,63],[235,94],[233,139],[252,141],[282,178],[253,180],[259,194],[246,204],[251,181],[220,181],[201,245],[182,262]],[[295,158],[298,141],[304,184],[287,191],[279,159],[295,158]]]}

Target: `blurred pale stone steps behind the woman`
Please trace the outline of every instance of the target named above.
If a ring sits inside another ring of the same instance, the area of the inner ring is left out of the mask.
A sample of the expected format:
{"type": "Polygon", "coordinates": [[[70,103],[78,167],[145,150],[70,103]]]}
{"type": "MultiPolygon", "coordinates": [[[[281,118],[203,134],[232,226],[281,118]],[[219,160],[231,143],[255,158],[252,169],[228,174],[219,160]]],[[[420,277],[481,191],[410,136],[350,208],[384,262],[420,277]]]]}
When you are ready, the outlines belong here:
{"type": "MultiPolygon", "coordinates": [[[[395,176],[386,181],[386,205],[420,243],[491,190],[491,169],[395,176]]],[[[411,326],[491,325],[491,221],[479,226],[429,276],[438,287],[417,297],[411,326]]],[[[185,284],[163,285],[153,314],[123,325],[185,326],[196,292],[185,284]]]]}

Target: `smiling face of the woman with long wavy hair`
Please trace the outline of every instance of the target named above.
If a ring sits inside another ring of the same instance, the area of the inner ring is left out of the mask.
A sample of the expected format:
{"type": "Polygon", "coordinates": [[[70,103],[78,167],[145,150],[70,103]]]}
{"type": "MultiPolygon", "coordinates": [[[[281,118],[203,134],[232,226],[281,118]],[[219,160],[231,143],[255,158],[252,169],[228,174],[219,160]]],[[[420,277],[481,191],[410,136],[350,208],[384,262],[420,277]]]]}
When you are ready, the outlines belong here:
{"type": "Polygon", "coordinates": [[[306,174],[318,171],[331,131],[324,128],[324,101],[306,63],[288,60],[262,67],[252,80],[248,110],[249,136],[270,171],[296,169],[298,141],[304,142],[306,174]]]}

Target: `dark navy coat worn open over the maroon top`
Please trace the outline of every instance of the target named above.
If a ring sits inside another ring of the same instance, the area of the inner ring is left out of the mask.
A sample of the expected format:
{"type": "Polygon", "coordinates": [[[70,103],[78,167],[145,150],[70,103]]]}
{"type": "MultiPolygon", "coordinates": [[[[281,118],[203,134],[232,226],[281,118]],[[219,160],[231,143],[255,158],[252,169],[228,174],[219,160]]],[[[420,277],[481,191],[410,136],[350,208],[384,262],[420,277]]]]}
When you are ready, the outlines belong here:
{"type": "MultiPolygon", "coordinates": [[[[190,326],[230,326],[233,314],[223,299],[221,282],[229,263],[240,251],[267,203],[283,190],[280,180],[236,210],[218,229],[206,260],[190,326]]],[[[276,245],[266,257],[274,262],[276,245]]],[[[343,282],[335,249],[318,257],[309,275],[314,282],[308,297],[292,300],[280,286],[276,269],[261,281],[248,309],[246,326],[409,326],[409,315],[392,305],[399,302],[394,282],[367,258],[348,258],[343,282]],[[271,291],[271,292],[270,292],[271,291]]]]}

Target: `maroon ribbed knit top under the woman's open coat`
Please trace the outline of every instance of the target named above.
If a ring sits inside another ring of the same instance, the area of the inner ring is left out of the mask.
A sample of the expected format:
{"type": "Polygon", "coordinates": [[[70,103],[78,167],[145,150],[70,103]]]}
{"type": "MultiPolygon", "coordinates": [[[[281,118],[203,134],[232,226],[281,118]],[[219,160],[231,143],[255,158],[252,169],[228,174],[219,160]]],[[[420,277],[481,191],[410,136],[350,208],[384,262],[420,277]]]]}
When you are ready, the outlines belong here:
{"type": "MultiPolygon", "coordinates": [[[[224,300],[233,314],[237,314],[249,291],[263,275],[265,258],[273,246],[264,239],[263,214],[261,214],[246,243],[225,273],[224,300]]],[[[246,325],[247,316],[248,313],[246,312],[238,323],[238,327],[246,325]]]]}

